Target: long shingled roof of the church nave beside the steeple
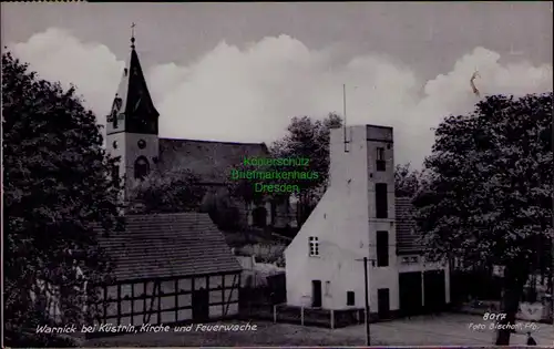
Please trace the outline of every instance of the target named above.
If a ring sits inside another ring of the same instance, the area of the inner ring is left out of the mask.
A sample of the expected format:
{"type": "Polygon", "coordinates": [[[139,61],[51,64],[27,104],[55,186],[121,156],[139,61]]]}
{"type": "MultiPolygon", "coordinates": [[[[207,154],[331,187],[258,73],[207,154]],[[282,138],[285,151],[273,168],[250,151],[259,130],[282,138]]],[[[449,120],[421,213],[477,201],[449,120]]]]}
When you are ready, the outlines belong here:
{"type": "Polygon", "coordinates": [[[223,184],[245,156],[268,156],[265,143],[160,138],[158,168],[193,171],[205,184],[223,184]]]}

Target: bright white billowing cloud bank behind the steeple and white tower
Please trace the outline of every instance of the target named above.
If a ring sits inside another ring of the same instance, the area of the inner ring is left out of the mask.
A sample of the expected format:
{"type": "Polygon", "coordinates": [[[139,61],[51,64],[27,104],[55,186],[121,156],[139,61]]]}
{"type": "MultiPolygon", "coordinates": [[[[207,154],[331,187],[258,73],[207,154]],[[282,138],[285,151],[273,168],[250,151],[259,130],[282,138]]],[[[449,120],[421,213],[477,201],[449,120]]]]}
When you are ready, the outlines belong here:
{"type": "MultiPolygon", "coordinates": [[[[124,62],[105,45],[49,29],[14,44],[13,52],[42,78],[76,84],[86,105],[100,117],[106,114],[124,62]]],[[[347,83],[348,123],[393,126],[397,163],[419,165],[433,142],[430,129],[478,102],[469,84],[475,69],[482,76],[475,84],[484,95],[553,88],[552,65],[533,66],[524,60],[502,64],[500,54],[484,48],[475,48],[450,72],[430,81],[382,54],[338,58],[334,49],[310,50],[279,35],[245,49],[220,42],[187,66],[152,66],[146,75],[161,113],[161,135],[271,142],[295,115],[341,113],[347,83]]]]}

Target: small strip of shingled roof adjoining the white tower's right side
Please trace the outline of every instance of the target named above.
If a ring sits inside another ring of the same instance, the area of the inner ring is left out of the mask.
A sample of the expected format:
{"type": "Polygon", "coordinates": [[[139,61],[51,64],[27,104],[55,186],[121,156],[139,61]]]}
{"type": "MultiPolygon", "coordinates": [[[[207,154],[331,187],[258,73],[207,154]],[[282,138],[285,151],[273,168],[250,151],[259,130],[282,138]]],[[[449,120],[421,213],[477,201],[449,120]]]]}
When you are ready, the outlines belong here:
{"type": "Polygon", "coordinates": [[[414,255],[422,252],[420,235],[412,218],[413,205],[409,197],[397,197],[397,255],[414,255]]]}

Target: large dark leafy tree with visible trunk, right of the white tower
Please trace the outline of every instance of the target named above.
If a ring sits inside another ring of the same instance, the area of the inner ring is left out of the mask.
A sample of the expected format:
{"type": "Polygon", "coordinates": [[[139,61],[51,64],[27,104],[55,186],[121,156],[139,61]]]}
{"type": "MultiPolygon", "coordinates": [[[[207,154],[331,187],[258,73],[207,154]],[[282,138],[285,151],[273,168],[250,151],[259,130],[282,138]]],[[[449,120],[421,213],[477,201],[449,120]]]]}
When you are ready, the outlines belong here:
{"type": "MultiPolygon", "coordinates": [[[[552,92],[494,95],[447,117],[414,199],[429,258],[503,267],[501,324],[514,324],[530,275],[551,266],[552,101],[552,92]]],[[[510,330],[500,330],[496,345],[509,343],[510,330]]]]}

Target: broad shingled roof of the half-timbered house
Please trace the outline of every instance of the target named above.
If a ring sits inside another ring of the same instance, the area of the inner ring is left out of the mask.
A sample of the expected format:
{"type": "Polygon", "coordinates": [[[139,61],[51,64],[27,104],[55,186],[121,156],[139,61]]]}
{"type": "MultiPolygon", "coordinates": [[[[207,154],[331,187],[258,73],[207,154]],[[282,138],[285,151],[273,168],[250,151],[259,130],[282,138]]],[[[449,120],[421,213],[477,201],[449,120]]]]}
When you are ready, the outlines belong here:
{"type": "Polygon", "coordinates": [[[100,244],[114,259],[117,280],[240,271],[207,214],[130,215],[125,232],[100,244]]]}

